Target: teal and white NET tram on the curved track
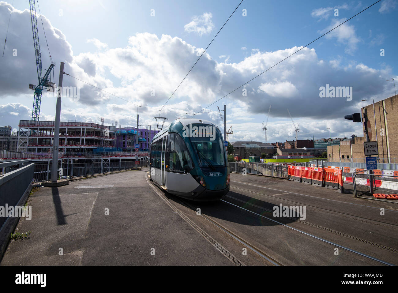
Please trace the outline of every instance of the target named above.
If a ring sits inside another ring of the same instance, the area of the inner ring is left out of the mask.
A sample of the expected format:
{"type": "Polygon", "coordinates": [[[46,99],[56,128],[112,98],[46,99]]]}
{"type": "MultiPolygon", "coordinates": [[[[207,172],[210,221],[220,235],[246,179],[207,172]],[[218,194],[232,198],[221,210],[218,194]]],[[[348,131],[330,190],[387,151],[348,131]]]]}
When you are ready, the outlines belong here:
{"type": "Polygon", "coordinates": [[[201,119],[177,119],[162,129],[150,145],[150,180],[185,199],[221,199],[230,169],[220,129],[201,119]]]}

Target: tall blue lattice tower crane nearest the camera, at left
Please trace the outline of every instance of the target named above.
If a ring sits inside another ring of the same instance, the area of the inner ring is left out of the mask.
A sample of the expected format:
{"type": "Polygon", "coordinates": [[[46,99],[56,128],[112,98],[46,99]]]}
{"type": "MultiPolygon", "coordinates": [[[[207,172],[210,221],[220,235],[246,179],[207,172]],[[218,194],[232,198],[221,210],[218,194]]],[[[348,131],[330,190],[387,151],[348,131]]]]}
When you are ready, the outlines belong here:
{"type": "MultiPolygon", "coordinates": [[[[37,2],[37,5],[39,3],[37,2]]],[[[35,57],[36,57],[36,67],[37,67],[37,78],[38,78],[38,85],[35,86],[33,84],[29,84],[29,88],[31,90],[35,91],[35,96],[33,98],[33,109],[32,109],[32,121],[39,121],[39,116],[40,116],[40,104],[41,104],[41,92],[43,91],[44,87],[51,87],[53,88],[55,86],[54,82],[50,82],[49,78],[51,79],[51,72],[53,71],[53,68],[55,67],[55,63],[53,63],[53,60],[51,59],[51,65],[45,72],[45,74],[42,74],[42,69],[41,69],[41,52],[40,52],[40,43],[39,43],[39,31],[37,29],[37,17],[36,17],[36,6],[35,6],[35,0],[29,0],[29,6],[30,6],[30,18],[32,21],[32,33],[33,33],[33,45],[35,47],[35,57]]],[[[40,8],[39,8],[40,11],[40,8]]],[[[44,26],[43,26],[44,29],[44,26]]],[[[47,38],[46,38],[47,42],[47,38]]],[[[48,47],[48,44],[47,44],[48,47]]]]}

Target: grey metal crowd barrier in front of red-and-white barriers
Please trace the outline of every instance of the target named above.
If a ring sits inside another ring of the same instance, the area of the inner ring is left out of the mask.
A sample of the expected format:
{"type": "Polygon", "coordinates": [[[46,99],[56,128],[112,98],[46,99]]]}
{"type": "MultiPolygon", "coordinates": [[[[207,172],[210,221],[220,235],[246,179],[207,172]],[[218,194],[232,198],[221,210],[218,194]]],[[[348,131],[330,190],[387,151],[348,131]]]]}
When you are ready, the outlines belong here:
{"type": "Polygon", "coordinates": [[[363,170],[352,174],[355,197],[373,194],[398,194],[398,176],[369,173],[369,170],[363,170]],[[371,190],[371,182],[373,182],[373,191],[371,190]]]}

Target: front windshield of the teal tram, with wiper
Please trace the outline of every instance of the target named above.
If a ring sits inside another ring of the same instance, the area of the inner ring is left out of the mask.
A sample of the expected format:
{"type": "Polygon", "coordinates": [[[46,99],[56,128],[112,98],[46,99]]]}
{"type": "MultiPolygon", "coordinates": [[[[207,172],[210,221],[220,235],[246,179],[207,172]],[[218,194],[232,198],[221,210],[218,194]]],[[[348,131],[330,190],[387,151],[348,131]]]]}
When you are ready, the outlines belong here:
{"type": "Polygon", "coordinates": [[[190,136],[193,149],[198,157],[199,166],[210,167],[211,169],[225,166],[225,151],[222,135],[219,129],[213,128],[210,125],[206,126],[207,129],[201,131],[200,127],[203,127],[203,125],[193,125],[193,135],[190,136]],[[196,135],[195,126],[199,129],[196,135]]]}

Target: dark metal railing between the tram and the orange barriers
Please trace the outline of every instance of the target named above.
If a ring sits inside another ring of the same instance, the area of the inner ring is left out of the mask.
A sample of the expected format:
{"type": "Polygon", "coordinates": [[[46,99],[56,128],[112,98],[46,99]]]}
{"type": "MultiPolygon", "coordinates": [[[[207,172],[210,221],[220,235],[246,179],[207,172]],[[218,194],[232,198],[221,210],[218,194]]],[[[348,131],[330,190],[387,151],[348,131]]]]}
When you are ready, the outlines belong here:
{"type": "Polygon", "coordinates": [[[288,166],[282,164],[229,162],[230,171],[235,173],[257,174],[278,178],[287,178],[288,166]]]}

